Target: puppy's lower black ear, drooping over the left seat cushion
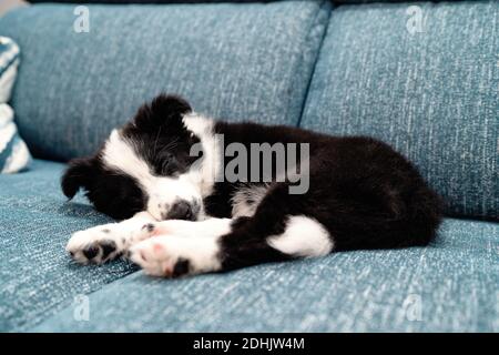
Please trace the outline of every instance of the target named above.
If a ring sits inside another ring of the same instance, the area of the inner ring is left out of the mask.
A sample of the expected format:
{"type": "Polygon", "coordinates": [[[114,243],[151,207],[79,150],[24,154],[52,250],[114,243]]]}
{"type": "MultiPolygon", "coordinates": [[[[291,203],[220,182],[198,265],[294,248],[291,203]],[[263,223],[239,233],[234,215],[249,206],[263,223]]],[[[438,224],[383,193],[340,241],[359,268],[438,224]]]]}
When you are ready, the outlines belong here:
{"type": "Polygon", "coordinates": [[[74,197],[80,187],[89,189],[90,182],[95,179],[95,168],[92,158],[78,158],[69,162],[61,179],[62,192],[70,200],[74,197]]]}

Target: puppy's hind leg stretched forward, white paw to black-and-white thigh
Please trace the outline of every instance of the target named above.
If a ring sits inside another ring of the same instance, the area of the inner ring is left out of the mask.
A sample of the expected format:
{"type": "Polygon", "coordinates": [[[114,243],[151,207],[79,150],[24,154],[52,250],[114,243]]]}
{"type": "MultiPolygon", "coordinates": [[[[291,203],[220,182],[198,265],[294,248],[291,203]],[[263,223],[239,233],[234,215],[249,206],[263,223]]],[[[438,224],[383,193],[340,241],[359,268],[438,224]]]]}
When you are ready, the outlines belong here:
{"type": "Polygon", "coordinates": [[[211,233],[206,229],[189,239],[171,234],[143,241],[132,246],[131,260],[150,275],[180,276],[322,256],[333,251],[333,239],[317,220],[291,214],[286,196],[274,197],[266,196],[255,215],[226,224],[226,231],[211,233]]]}

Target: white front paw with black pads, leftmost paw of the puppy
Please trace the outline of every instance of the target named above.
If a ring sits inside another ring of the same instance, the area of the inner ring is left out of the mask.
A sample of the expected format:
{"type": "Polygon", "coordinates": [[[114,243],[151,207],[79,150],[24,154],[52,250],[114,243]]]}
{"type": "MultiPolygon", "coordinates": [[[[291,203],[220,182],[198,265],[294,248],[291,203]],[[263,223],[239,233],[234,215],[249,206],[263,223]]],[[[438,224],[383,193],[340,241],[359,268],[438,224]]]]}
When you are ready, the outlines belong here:
{"type": "Polygon", "coordinates": [[[102,264],[121,255],[122,243],[112,237],[111,230],[90,229],[74,233],[65,250],[81,264],[102,264]]]}

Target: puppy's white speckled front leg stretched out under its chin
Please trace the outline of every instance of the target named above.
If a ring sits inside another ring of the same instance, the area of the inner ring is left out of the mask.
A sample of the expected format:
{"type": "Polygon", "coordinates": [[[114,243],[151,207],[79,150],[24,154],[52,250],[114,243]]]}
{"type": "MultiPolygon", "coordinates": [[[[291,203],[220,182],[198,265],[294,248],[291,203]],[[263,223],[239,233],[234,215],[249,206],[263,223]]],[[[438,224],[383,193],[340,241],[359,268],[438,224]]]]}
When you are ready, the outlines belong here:
{"type": "Polygon", "coordinates": [[[65,250],[79,263],[101,264],[122,255],[135,243],[153,234],[155,220],[147,212],[132,219],[74,233],[65,250]]]}

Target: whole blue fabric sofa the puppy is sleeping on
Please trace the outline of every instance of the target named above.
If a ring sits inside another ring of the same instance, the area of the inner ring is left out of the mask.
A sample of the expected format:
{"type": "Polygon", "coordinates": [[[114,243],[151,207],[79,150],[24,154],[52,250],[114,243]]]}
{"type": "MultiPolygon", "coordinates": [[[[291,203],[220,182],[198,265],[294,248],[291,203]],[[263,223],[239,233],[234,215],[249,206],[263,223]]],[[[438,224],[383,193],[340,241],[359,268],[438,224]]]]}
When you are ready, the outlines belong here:
{"type": "Polygon", "coordinates": [[[498,332],[499,2],[208,2],[89,4],[89,32],[74,4],[0,18],[35,156],[0,175],[0,331],[498,332]],[[65,201],[64,162],[161,91],[393,144],[446,202],[437,240],[174,281],[72,263],[70,234],[109,217],[65,201]]]}

